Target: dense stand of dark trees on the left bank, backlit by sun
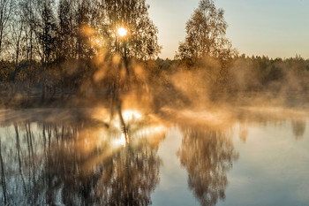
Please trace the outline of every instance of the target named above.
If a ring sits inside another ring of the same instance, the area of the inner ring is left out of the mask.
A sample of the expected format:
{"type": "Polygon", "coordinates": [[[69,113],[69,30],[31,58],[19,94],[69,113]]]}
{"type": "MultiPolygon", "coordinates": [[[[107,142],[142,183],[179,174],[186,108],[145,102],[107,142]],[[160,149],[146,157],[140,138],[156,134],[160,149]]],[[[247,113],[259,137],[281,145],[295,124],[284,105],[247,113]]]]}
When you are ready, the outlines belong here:
{"type": "Polygon", "coordinates": [[[62,96],[65,89],[75,93],[102,67],[118,76],[123,67],[129,72],[132,59],[147,61],[161,50],[145,0],[0,0],[0,5],[0,81],[10,96],[30,93],[31,87],[41,88],[42,99],[57,90],[62,96]],[[117,34],[119,27],[128,35],[117,34]]]}

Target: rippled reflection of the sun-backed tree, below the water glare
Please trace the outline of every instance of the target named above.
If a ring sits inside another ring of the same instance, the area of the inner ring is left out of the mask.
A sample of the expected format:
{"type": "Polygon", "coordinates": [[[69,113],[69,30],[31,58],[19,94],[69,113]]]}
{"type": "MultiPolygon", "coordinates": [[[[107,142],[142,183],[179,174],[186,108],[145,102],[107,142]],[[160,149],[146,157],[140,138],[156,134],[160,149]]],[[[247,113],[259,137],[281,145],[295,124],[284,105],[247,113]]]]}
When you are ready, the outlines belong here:
{"type": "Polygon", "coordinates": [[[156,149],[139,145],[121,149],[104,165],[96,186],[103,205],[148,205],[159,182],[156,149]]]}

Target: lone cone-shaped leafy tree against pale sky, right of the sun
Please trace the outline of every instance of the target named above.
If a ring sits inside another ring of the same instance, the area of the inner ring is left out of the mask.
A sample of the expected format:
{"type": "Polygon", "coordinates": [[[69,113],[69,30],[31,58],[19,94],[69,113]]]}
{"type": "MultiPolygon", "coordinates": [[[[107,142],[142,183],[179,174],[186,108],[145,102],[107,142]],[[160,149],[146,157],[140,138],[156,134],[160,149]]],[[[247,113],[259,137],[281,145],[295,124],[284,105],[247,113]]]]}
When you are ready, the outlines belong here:
{"type": "Polygon", "coordinates": [[[214,0],[201,0],[186,22],[185,42],[180,42],[176,58],[230,57],[234,51],[225,37],[228,25],[223,14],[222,9],[215,8],[214,0]]]}

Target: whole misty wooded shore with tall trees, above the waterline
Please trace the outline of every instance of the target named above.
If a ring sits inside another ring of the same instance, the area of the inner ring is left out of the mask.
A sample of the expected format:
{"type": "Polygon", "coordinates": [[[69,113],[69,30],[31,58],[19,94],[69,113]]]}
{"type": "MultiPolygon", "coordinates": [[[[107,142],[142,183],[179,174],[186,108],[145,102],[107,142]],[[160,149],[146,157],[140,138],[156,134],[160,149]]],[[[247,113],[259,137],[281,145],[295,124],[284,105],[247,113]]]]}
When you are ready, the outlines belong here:
{"type": "Polygon", "coordinates": [[[145,0],[0,5],[4,107],[85,105],[132,93],[147,95],[157,108],[197,99],[234,103],[239,96],[244,102],[257,94],[290,103],[309,87],[308,59],[239,54],[225,36],[224,11],[213,0],[201,0],[193,11],[174,59],[158,57],[159,31],[145,0]]]}

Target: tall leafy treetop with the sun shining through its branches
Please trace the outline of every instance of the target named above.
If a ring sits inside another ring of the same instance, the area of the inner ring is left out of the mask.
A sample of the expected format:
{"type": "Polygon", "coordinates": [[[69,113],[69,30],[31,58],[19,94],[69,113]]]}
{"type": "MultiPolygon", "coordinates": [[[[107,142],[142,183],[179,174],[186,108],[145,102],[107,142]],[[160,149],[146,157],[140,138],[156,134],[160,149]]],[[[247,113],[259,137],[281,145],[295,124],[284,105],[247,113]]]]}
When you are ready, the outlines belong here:
{"type": "Polygon", "coordinates": [[[142,60],[157,56],[161,50],[157,42],[158,29],[148,17],[149,5],[145,0],[102,0],[101,6],[101,27],[109,40],[109,51],[142,60]],[[123,39],[117,34],[119,27],[128,31],[123,39]]]}

